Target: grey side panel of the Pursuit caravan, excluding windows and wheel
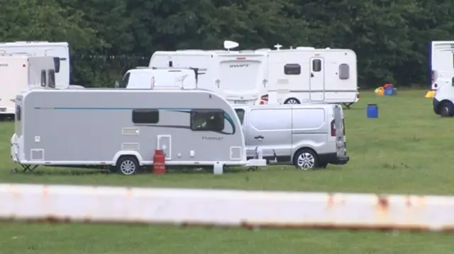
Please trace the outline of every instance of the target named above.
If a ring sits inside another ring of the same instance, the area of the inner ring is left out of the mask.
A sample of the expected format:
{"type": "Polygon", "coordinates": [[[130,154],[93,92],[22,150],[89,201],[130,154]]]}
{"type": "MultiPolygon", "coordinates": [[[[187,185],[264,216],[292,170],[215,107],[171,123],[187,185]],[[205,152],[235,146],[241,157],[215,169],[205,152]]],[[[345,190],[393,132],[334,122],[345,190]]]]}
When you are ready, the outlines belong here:
{"type": "Polygon", "coordinates": [[[231,147],[244,147],[235,112],[226,100],[206,91],[32,91],[25,108],[27,160],[109,164],[123,150],[137,151],[145,163],[151,163],[159,148],[170,156],[167,163],[194,165],[232,161],[231,147]],[[193,131],[194,108],[226,110],[223,131],[193,131]],[[137,109],[158,110],[157,122],[134,120],[137,109]],[[160,139],[161,147],[158,137],[165,137],[160,139]],[[43,158],[32,158],[33,151],[43,151],[43,158]]]}

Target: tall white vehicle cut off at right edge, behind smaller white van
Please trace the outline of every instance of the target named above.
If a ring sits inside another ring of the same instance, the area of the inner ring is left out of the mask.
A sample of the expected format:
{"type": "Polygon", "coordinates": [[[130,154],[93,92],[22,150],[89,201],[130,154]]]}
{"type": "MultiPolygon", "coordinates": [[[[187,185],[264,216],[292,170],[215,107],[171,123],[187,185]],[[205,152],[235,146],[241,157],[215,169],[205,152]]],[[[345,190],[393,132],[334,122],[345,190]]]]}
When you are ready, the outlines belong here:
{"type": "Polygon", "coordinates": [[[438,40],[429,43],[428,71],[432,90],[437,90],[445,79],[454,76],[454,41],[438,40]]]}

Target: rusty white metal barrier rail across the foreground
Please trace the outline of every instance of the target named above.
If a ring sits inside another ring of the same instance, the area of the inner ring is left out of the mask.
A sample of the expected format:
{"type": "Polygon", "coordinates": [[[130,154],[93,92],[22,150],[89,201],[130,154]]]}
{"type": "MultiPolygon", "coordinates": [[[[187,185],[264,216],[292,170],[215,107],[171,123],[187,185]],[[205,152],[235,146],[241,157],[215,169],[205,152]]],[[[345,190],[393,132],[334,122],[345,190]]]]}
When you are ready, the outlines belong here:
{"type": "Polygon", "coordinates": [[[0,184],[0,219],[338,229],[454,229],[454,197],[0,184]]]}

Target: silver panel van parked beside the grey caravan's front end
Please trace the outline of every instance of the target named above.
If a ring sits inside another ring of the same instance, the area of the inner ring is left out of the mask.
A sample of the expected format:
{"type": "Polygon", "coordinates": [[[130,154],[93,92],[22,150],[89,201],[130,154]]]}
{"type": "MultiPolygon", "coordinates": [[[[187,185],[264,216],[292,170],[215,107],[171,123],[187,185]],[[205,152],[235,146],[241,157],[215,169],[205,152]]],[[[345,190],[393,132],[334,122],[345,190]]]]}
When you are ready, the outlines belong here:
{"type": "Polygon", "coordinates": [[[267,163],[305,170],[345,164],[343,110],[338,104],[233,105],[248,158],[262,151],[267,163]]]}

